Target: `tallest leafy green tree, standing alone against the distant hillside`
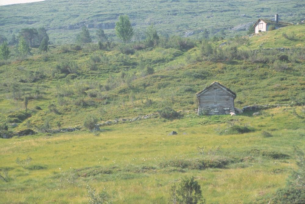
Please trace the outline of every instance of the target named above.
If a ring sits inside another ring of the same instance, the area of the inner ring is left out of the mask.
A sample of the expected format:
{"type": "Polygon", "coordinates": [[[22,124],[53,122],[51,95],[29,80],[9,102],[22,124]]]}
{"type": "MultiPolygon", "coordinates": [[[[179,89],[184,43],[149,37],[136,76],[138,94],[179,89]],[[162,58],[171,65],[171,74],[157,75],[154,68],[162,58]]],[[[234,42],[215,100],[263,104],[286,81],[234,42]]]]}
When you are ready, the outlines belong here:
{"type": "Polygon", "coordinates": [[[115,33],[125,44],[131,40],[134,32],[127,15],[120,15],[115,24],[115,33]]]}

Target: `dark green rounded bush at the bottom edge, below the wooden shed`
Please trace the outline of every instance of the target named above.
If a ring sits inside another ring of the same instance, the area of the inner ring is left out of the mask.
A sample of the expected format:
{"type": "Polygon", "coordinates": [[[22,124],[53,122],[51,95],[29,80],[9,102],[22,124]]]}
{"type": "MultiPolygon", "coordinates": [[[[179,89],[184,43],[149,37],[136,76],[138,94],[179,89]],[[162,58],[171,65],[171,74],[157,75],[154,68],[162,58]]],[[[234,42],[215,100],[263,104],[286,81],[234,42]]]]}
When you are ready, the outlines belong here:
{"type": "Polygon", "coordinates": [[[169,203],[180,204],[203,204],[205,200],[202,198],[201,187],[195,177],[184,177],[176,186],[171,187],[171,198],[169,203]]]}

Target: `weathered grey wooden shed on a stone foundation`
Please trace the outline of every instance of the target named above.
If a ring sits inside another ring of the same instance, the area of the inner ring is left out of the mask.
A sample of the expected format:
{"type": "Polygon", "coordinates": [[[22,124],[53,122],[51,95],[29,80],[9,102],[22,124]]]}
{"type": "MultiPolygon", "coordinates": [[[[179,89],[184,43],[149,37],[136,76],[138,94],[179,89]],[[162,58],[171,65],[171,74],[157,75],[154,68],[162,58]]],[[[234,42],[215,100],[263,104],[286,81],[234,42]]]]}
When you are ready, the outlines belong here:
{"type": "Polygon", "coordinates": [[[234,99],[236,94],[216,81],[198,92],[196,96],[199,102],[198,115],[235,113],[234,99]]]}

